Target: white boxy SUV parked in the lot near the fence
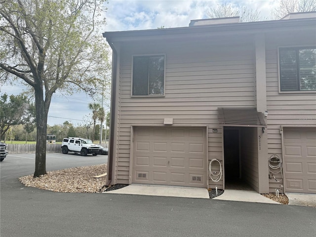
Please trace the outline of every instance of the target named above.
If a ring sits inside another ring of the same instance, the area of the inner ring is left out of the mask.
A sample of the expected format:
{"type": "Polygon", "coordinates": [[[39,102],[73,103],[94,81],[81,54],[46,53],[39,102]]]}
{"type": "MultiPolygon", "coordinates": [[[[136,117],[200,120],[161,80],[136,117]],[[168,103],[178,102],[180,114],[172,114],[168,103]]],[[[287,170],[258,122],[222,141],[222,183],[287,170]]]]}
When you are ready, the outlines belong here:
{"type": "Polygon", "coordinates": [[[81,156],[92,154],[96,156],[99,154],[100,146],[92,143],[90,139],[79,137],[67,137],[63,139],[61,144],[61,151],[63,154],[68,152],[80,153],[81,156]]]}

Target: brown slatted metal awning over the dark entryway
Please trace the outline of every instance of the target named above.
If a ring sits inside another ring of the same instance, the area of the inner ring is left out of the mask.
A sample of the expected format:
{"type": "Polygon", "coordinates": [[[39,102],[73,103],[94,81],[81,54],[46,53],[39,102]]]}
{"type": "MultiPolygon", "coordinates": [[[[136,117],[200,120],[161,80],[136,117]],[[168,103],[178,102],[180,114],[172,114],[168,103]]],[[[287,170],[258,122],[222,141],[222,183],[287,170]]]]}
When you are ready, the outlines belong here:
{"type": "Polygon", "coordinates": [[[267,127],[264,114],[256,108],[217,108],[221,126],[267,127]]]}

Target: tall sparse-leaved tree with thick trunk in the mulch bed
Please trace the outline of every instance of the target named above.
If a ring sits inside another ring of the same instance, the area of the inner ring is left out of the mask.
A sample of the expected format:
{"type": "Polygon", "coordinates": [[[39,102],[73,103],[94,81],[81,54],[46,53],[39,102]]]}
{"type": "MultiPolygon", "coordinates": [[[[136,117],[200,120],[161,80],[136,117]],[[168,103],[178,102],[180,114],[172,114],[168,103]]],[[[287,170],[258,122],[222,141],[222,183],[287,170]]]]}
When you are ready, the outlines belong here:
{"type": "Polygon", "coordinates": [[[47,115],[53,94],[93,95],[108,74],[100,27],[107,0],[1,0],[0,79],[22,80],[36,104],[34,177],[46,173],[47,115]]]}

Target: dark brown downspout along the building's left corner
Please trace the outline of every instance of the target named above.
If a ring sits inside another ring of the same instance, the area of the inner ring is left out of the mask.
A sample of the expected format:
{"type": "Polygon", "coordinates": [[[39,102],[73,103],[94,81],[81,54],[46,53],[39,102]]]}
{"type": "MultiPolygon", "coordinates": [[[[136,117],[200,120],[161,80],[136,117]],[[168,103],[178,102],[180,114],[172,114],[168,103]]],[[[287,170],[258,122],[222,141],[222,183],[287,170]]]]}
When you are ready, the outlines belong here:
{"type": "MultiPolygon", "coordinates": [[[[103,37],[104,33],[103,33],[103,37]]],[[[112,182],[112,166],[113,166],[113,154],[114,154],[114,127],[115,127],[115,106],[116,106],[116,87],[117,87],[117,50],[115,49],[113,42],[107,39],[110,47],[113,50],[112,53],[112,82],[111,82],[111,120],[110,120],[110,141],[109,141],[109,156],[108,156],[108,180],[106,186],[110,186],[112,182]]]]}

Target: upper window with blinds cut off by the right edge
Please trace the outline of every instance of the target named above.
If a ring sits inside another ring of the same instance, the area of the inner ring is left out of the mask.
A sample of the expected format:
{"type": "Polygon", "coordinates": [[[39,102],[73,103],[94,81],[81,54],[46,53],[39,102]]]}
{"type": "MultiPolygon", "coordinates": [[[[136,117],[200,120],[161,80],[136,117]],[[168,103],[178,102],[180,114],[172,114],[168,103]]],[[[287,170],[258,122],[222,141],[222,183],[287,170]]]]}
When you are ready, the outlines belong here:
{"type": "Polygon", "coordinates": [[[316,91],[316,47],[279,48],[280,91],[316,91]]]}

